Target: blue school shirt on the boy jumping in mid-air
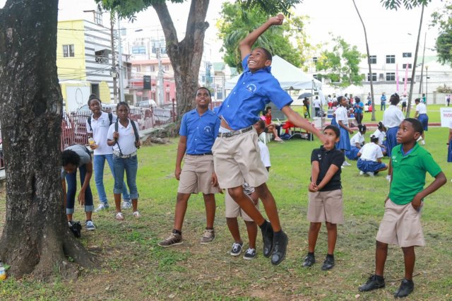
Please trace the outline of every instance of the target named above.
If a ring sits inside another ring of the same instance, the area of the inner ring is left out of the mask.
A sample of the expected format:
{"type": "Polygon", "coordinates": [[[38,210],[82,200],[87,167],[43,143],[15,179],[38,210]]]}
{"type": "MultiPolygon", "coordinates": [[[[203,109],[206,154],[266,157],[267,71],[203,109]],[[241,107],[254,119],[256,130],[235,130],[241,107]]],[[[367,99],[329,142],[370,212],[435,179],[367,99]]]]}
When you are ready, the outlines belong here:
{"type": "Polygon", "coordinates": [[[248,58],[249,55],[242,61],[244,72],[230,95],[220,107],[215,108],[215,113],[236,131],[258,122],[259,113],[265,109],[268,102],[273,102],[279,110],[292,103],[290,95],[270,73],[270,66],[251,73],[248,69],[248,58]]]}

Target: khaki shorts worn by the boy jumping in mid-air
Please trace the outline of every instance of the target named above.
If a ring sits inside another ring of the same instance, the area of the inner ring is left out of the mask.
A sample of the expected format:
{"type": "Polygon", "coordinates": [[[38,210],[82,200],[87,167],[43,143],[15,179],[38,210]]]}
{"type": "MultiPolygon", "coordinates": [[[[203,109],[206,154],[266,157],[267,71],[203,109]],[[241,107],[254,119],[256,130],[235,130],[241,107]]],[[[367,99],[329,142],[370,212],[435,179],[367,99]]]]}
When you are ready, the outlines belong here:
{"type": "Polygon", "coordinates": [[[217,137],[213,143],[213,161],[221,188],[239,187],[247,182],[258,187],[267,182],[268,172],[261,161],[256,131],[232,137],[217,137]]]}

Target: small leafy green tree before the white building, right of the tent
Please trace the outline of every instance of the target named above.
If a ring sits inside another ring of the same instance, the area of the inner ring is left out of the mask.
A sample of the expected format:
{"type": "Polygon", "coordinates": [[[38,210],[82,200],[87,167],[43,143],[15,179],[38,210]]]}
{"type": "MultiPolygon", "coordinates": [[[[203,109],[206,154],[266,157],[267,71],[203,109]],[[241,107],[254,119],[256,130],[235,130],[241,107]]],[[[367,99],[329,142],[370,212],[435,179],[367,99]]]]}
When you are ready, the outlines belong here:
{"type": "Polygon", "coordinates": [[[365,56],[357,46],[351,46],[342,37],[333,37],[335,45],[332,50],[323,50],[317,59],[317,71],[325,71],[323,77],[329,78],[332,85],[348,87],[361,85],[362,76],[359,73],[359,62],[365,56]]]}

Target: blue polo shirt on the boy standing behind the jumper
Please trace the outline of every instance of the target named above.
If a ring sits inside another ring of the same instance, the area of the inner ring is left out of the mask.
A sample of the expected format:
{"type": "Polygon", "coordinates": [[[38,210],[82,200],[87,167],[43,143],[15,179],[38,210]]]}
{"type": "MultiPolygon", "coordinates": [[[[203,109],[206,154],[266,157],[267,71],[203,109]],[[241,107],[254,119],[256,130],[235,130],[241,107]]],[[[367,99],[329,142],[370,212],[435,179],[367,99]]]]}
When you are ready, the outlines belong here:
{"type": "Polygon", "coordinates": [[[180,136],[186,136],[186,154],[211,153],[215,138],[220,129],[220,119],[207,110],[199,116],[196,109],[186,112],[182,117],[180,136]]]}

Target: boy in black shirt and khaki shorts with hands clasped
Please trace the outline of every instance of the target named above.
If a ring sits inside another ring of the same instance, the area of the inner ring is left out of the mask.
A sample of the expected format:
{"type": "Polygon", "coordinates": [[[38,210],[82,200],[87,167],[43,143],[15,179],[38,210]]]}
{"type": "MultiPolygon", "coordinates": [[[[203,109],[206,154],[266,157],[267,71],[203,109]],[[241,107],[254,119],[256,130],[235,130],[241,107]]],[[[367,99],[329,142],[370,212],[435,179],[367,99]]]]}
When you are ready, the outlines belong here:
{"type": "Polygon", "coordinates": [[[328,232],[328,254],[323,261],[322,270],[334,266],[334,247],[338,237],[336,225],[344,222],[342,186],[340,184],[340,167],[344,163],[344,153],[335,148],[340,131],[337,126],[326,126],[323,134],[328,139],[311,154],[311,183],[309,184],[309,253],[304,258],[303,266],[312,266],[315,262],[314,249],[322,222],[328,232]]]}

